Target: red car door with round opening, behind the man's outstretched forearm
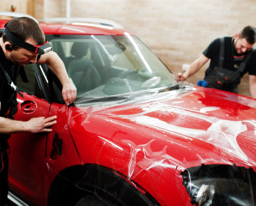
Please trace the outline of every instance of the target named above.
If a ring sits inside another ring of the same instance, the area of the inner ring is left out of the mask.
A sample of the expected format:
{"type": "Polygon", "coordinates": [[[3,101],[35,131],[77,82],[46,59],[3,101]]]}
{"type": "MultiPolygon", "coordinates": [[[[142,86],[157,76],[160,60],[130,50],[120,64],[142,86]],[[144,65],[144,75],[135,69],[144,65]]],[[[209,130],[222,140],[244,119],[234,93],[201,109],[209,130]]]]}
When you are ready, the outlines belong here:
{"type": "MultiPolygon", "coordinates": [[[[25,93],[23,96],[24,99],[18,95],[19,105],[15,120],[28,121],[33,117],[43,116],[47,118],[49,116],[50,103],[48,101],[25,93]],[[33,112],[22,111],[22,104],[26,101],[35,102],[36,109],[33,112]]],[[[44,205],[42,194],[44,192],[46,139],[47,133],[25,132],[12,134],[8,141],[11,148],[9,186],[35,205],[44,205]]]]}

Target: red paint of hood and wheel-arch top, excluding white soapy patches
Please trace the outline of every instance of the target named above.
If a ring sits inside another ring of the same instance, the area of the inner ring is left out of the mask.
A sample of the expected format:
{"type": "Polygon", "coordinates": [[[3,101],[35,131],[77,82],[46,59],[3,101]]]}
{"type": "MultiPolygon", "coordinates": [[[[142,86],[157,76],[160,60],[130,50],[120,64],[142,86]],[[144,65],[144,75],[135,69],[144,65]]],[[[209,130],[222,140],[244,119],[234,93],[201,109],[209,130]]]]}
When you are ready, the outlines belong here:
{"type": "Polygon", "coordinates": [[[191,112],[192,116],[168,111],[154,111],[142,116],[153,117],[168,125],[178,126],[180,131],[183,128],[189,128],[191,132],[207,131],[212,124],[196,115],[193,116],[193,114],[200,114],[200,109],[204,107],[220,107],[216,111],[203,114],[206,119],[215,117],[227,121],[256,121],[256,110],[246,106],[248,102],[251,101],[255,104],[256,101],[247,97],[243,98],[231,93],[198,88],[197,91],[185,93],[172,100],[165,100],[163,97],[160,101],[110,108],[73,107],[69,117],[70,132],[78,150],[81,151],[83,162],[111,167],[130,177],[152,194],[161,205],[180,205],[184,197],[180,196],[177,188],[177,184],[181,183],[182,178],[178,179],[176,176],[177,180],[175,180],[175,169],[178,165],[184,168],[199,166],[203,163],[236,164],[247,168],[248,165],[251,165],[255,171],[255,145],[251,144],[252,140],[254,143],[256,140],[255,126],[249,122],[243,122],[242,124],[246,125],[247,130],[239,133],[236,138],[240,149],[250,158],[245,161],[226,150],[224,142],[218,147],[210,142],[191,138],[190,134],[184,135],[182,132],[168,132],[168,130],[157,126],[142,125],[127,120],[124,116],[142,113],[144,112],[142,108],[148,107],[148,105],[164,104],[169,108],[173,106],[183,108],[184,111],[191,112]],[[233,99],[233,101],[225,98],[233,99]],[[235,99],[245,102],[240,104],[235,102],[235,99]],[[184,102],[172,103],[177,101],[184,102]],[[130,162],[131,147],[123,140],[129,140],[135,145],[143,145],[155,140],[150,145],[150,149],[155,152],[156,157],[148,156],[145,159],[145,153],[140,150],[130,176],[128,163],[130,162]],[[166,152],[163,150],[165,146],[167,146],[166,152]],[[162,157],[160,151],[164,151],[162,157]],[[164,155],[172,157],[175,161],[165,158],[164,155]],[[154,164],[156,165],[153,166],[154,164]]]}

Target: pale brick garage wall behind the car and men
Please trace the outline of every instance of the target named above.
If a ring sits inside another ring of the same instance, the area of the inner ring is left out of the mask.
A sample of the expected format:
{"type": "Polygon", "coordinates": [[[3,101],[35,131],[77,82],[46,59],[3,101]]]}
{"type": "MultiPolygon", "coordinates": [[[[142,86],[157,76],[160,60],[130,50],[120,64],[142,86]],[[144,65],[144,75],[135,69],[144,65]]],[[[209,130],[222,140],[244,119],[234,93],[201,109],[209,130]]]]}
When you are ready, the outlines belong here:
{"type": "MultiPolygon", "coordinates": [[[[4,2],[26,13],[31,12],[26,6],[31,2],[37,19],[66,16],[66,0],[4,2]]],[[[247,25],[256,26],[255,0],[71,0],[70,10],[71,17],[121,24],[152,48],[174,74],[182,72],[182,64],[197,59],[214,39],[234,36],[247,25]]],[[[208,64],[187,81],[203,79],[208,64]]],[[[250,96],[248,75],[242,79],[239,93],[250,96]]]]}

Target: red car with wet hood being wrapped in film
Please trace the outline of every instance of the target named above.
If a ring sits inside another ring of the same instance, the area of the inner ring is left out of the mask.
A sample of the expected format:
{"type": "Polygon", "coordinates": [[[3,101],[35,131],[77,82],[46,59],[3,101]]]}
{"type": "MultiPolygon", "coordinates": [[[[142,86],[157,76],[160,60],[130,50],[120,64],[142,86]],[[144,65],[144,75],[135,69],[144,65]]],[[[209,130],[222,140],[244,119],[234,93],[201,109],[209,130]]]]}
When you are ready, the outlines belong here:
{"type": "Polygon", "coordinates": [[[78,97],[66,106],[46,65],[25,66],[16,120],[57,115],[57,124],[11,136],[9,197],[38,206],[256,205],[256,101],[176,82],[139,38],[109,24],[39,24],[78,97]]]}

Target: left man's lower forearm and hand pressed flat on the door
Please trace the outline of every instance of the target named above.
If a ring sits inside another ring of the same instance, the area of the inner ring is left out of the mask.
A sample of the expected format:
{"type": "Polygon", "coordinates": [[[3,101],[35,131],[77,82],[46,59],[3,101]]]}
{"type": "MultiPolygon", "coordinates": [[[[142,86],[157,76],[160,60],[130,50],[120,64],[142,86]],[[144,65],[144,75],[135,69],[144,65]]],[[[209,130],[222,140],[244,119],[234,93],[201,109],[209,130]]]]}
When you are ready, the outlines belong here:
{"type": "Polygon", "coordinates": [[[22,122],[0,117],[0,134],[15,134],[19,132],[51,132],[52,129],[47,129],[46,127],[56,124],[57,121],[54,121],[56,118],[57,116],[52,116],[49,118],[38,117],[31,118],[27,122],[22,122]]]}

